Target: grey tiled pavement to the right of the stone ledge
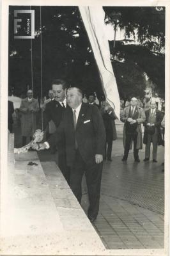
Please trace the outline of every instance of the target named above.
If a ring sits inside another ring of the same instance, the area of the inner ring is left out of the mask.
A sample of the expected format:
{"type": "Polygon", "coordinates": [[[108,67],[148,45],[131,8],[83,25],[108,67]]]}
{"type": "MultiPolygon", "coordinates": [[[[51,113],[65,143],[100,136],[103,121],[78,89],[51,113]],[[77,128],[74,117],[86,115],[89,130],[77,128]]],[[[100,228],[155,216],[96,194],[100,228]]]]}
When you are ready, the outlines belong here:
{"type": "MultiPolygon", "coordinates": [[[[104,162],[100,212],[94,222],[107,249],[164,248],[164,147],[158,147],[158,163],[134,163],[132,151],[127,163],[123,156],[123,124],[116,122],[118,140],[113,141],[112,162],[104,162]]],[[[57,154],[45,150],[40,161],[56,161],[57,154]]],[[[82,182],[82,208],[88,209],[85,179],[82,182]]]]}

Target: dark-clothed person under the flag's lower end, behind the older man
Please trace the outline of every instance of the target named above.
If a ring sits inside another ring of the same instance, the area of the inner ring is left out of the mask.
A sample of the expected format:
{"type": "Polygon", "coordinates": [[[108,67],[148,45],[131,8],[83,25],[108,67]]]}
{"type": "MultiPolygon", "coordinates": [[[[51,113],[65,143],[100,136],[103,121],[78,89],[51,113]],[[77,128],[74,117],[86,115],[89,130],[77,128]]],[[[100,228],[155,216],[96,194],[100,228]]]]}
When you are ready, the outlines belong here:
{"type": "Polygon", "coordinates": [[[116,125],[114,122],[114,120],[116,119],[116,115],[114,113],[114,110],[108,103],[104,109],[101,109],[101,111],[104,120],[106,134],[104,160],[107,157],[108,161],[112,161],[112,141],[117,139],[116,125]]]}

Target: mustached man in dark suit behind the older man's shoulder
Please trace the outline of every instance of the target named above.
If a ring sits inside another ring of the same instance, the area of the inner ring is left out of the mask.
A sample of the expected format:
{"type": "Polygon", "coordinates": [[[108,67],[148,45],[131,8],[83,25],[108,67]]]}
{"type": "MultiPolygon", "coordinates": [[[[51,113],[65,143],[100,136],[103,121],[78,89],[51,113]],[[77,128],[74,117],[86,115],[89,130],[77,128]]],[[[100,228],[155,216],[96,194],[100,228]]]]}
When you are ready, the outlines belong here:
{"type": "MultiPolygon", "coordinates": [[[[43,111],[43,125],[39,123],[38,129],[45,129],[50,120],[54,122],[56,128],[59,126],[63,113],[65,112],[66,108],[68,108],[66,104],[66,89],[67,83],[63,79],[56,79],[52,81],[52,92],[54,93],[54,100],[51,100],[46,104],[45,111],[43,111]]],[[[54,147],[56,147],[56,145],[51,147],[51,149],[54,150],[54,147]]],[[[69,184],[70,172],[66,166],[64,137],[60,143],[58,143],[58,166],[69,184]]]]}

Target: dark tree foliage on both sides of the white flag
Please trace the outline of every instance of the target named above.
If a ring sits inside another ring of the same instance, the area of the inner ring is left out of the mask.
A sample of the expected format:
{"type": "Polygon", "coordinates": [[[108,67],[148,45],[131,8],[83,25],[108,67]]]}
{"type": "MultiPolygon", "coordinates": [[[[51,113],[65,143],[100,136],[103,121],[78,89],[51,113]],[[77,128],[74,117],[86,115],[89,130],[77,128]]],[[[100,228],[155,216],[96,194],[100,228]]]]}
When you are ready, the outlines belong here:
{"type": "MultiPolygon", "coordinates": [[[[42,6],[42,24],[40,6],[31,8],[35,10],[36,31],[32,40],[33,77],[31,40],[13,38],[13,11],[16,6],[10,6],[9,86],[14,87],[20,96],[22,91],[26,92],[27,86],[31,88],[33,81],[34,94],[40,97],[41,86],[45,95],[52,79],[61,77],[85,93],[97,92],[100,97],[103,92],[97,65],[77,6],[42,6]]],[[[23,6],[17,6],[19,9],[23,10],[23,6]]],[[[124,40],[116,42],[114,48],[110,42],[112,65],[121,97],[130,91],[143,94],[146,86],[144,73],[158,88],[163,88],[164,8],[104,7],[104,10],[107,22],[124,29],[126,39],[132,34],[137,35],[139,43],[125,44],[127,41],[124,40]]]]}

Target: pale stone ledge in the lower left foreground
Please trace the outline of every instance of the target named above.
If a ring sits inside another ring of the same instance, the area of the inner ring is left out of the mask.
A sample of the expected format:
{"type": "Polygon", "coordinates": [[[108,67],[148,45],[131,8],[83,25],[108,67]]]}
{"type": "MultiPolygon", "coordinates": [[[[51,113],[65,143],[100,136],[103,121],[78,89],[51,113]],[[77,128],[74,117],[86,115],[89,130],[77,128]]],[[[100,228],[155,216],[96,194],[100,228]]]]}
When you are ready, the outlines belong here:
{"type": "Polygon", "coordinates": [[[36,152],[27,152],[9,164],[1,197],[1,255],[104,255],[100,237],[56,163],[41,164],[36,152]]]}

